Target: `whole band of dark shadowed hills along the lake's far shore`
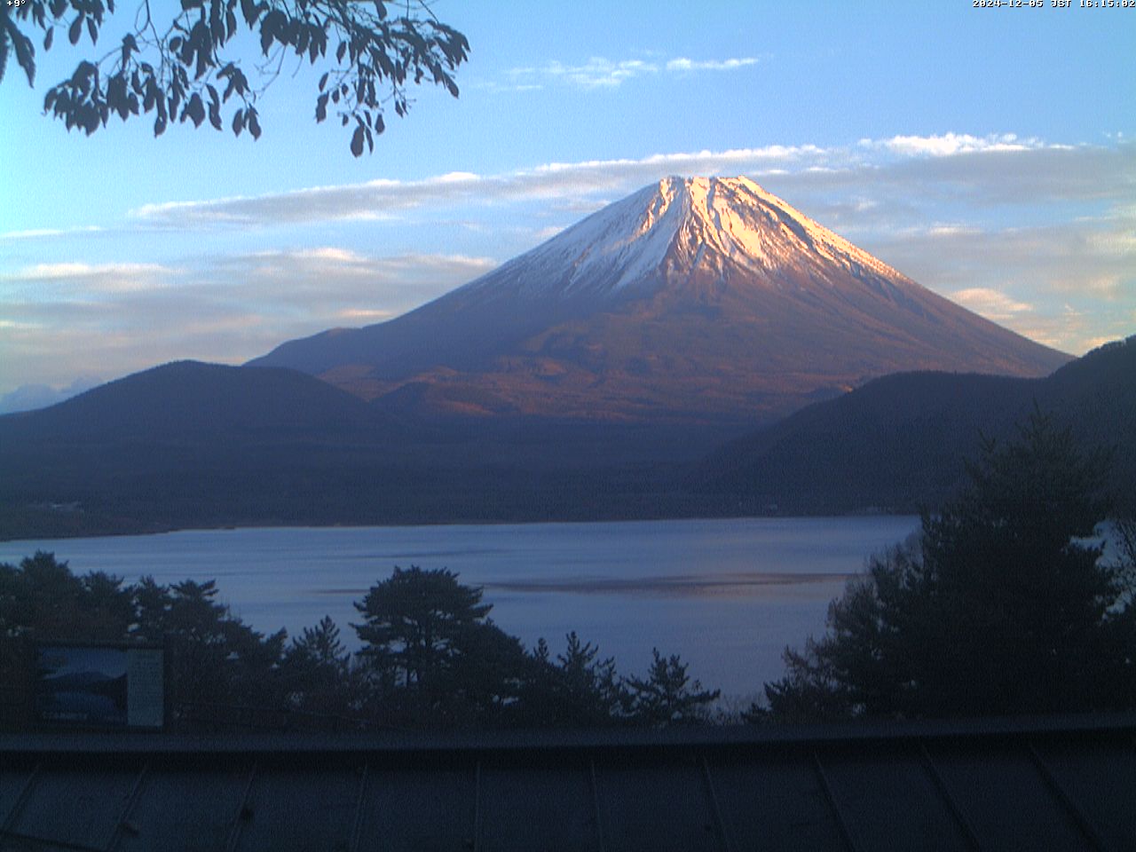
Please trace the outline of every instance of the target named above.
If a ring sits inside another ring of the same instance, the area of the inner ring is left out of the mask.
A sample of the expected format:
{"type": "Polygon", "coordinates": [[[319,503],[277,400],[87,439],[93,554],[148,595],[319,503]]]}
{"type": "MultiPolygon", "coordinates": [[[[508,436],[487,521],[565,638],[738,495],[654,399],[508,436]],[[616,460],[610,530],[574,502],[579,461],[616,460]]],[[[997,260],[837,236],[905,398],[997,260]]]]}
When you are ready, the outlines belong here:
{"type": "Polygon", "coordinates": [[[0,537],[911,511],[949,495],[979,434],[1010,434],[1035,400],[1117,445],[1114,486],[1131,494],[1134,376],[1136,339],[1043,379],[900,374],[738,437],[457,416],[429,385],[379,409],[287,369],[184,361],[0,417],[0,537]]]}

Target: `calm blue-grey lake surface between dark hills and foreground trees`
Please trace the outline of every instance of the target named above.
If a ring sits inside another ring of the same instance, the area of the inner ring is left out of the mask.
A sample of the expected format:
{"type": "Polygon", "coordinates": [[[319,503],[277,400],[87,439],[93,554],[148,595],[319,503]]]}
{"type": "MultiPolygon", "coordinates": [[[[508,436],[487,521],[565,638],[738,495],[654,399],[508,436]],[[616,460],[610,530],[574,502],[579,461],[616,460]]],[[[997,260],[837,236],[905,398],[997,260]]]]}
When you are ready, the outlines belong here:
{"type": "Polygon", "coordinates": [[[135,582],[216,579],[220,600],[259,630],[296,635],[325,615],[349,643],[352,602],[398,565],[449,568],[485,587],[492,617],[553,654],[576,630],[644,674],[651,649],[678,653],[724,695],[782,674],[782,650],[824,629],[828,601],[917,517],[283,527],[0,542],[0,561],[55,552],[76,574],[135,582]]]}

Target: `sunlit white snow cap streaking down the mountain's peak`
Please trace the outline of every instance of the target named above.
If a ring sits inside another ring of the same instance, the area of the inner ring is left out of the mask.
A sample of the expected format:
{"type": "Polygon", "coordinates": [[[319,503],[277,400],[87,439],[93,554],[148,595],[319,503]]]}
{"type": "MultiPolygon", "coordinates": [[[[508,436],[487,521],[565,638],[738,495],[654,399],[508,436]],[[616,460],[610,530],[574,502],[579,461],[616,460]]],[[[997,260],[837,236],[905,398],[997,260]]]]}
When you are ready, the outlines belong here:
{"type": "Polygon", "coordinates": [[[841,266],[907,278],[746,177],[666,177],[470,282],[531,295],[616,294],[734,265],[763,275],[841,266]]]}

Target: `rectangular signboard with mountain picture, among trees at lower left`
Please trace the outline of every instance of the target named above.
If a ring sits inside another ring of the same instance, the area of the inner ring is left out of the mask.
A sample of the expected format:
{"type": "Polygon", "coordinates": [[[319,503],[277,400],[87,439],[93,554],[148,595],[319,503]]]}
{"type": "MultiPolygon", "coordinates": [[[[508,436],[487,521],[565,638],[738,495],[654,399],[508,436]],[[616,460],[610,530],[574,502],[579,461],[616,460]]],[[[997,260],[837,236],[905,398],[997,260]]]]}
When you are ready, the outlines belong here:
{"type": "Polygon", "coordinates": [[[35,717],[40,722],[82,728],[161,728],[165,703],[161,648],[36,648],[35,717]]]}

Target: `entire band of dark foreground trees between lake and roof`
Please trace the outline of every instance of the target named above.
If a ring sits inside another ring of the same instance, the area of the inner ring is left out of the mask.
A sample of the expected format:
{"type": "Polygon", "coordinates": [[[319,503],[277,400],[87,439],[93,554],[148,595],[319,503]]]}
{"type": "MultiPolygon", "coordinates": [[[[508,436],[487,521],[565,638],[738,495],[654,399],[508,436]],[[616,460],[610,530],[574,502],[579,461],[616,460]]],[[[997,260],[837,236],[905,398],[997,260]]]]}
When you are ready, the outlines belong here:
{"type": "MultiPolygon", "coordinates": [[[[1086,449],[1035,409],[988,440],[968,484],[911,540],[872,557],[827,632],[742,719],[942,718],[1136,709],[1136,521],[1086,449]]],[[[0,566],[9,726],[31,719],[37,641],[162,643],[168,726],[456,728],[670,726],[738,720],[678,655],[624,676],[575,633],[526,649],[481,588],[394,568],[356,602],[360,648],[325,618],[291,641],[218,602],[214,582],[77,576],[50,553],[0,566]]],[[[758,684],[754,684],[758,687],[758,684]]]]}

